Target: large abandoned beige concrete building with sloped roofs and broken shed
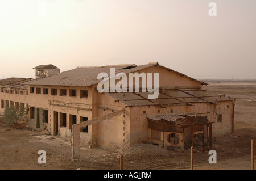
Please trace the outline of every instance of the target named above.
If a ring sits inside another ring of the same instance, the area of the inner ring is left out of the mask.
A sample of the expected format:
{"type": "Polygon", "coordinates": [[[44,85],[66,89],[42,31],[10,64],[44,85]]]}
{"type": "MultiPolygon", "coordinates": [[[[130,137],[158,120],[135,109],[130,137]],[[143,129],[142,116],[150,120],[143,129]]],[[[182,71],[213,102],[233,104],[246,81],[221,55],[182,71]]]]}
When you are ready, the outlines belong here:
{"type": "MultiPolygon", "coordinates": [[[[234,129],[234,99],[208,92],[204,85],[158,63],[79,67],[25,82],[25,97],[19,101],[28,107],[31,128],[72,140],[73,158],[80,144],[124,151],[147,142],[183,151],[196,144],[210,148],[212,137],[234,129]],[[159,73],[158,98],[148,99],[149,92],[100,93],[97,75],[110,74],[110,68],[124,74],[159,73]]],[[[10,87],[0,86],[2,113],[12,95],[6,92],[10,87]]],[[[16,95],[17,100],[22,96],[16,95]]]]}

